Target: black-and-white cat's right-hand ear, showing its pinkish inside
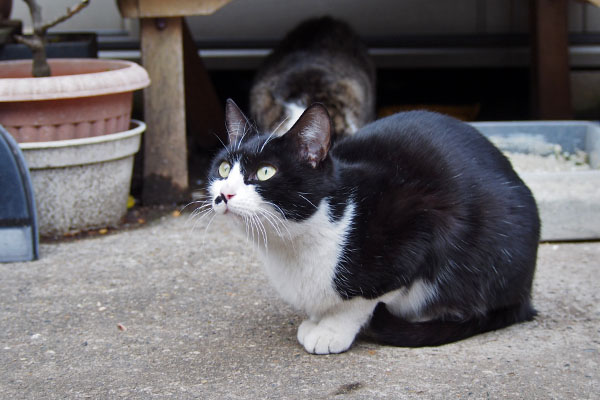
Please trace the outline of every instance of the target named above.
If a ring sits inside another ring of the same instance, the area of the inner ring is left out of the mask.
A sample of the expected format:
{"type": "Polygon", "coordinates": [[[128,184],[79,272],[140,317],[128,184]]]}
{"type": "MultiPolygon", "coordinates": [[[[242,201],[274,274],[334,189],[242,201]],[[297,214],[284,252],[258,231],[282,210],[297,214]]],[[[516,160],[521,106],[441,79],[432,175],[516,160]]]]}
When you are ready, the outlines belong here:
{"type": "Polygon", "coordinates": [[[316,168],[331,145],[331,118],[325,106],[315,103],[308,107],[285,137],[293,139],[300,158],[316,168]]]}

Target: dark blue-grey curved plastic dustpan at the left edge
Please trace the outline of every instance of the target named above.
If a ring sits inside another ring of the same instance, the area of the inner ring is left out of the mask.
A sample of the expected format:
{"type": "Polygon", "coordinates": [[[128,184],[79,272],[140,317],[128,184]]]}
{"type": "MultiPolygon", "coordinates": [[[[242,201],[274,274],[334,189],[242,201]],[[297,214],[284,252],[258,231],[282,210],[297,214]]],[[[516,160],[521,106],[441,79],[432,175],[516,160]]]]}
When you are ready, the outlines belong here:
{"type": "Polygon", "coordinates": [[[21,149],[0,125],[0,262],[39,256],[35,200],[21,149]]]}

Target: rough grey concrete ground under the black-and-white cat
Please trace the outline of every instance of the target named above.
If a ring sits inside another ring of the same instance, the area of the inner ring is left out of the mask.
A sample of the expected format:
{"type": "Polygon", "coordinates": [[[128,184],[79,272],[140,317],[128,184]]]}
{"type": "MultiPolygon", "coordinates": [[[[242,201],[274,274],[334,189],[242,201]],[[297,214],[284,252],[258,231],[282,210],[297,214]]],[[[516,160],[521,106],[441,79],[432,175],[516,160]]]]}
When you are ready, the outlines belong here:
{"type": "Polygon", "coordinates": [[[313,356],[245,239],[170,214],[0,264],[2,399],[600,397],[600,243],[543,244],[531,323],[313,356]]]}

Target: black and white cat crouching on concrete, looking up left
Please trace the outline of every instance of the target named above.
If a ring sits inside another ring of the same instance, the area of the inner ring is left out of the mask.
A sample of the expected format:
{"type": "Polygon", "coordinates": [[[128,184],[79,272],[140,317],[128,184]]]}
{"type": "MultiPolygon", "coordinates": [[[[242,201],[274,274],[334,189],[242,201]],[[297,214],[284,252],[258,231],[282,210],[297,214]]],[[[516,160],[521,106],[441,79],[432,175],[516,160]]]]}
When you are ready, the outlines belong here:
{"type": "Polygon", "coordinates": [[[229,100],[211,208],[256,242],[279,294],[308,315],[306,351],[364,331],[431,346],[531,320],[540,222],[529,189],[474,128],[431,112],[331,143],[319,104],[283,136],[229,100]]]}

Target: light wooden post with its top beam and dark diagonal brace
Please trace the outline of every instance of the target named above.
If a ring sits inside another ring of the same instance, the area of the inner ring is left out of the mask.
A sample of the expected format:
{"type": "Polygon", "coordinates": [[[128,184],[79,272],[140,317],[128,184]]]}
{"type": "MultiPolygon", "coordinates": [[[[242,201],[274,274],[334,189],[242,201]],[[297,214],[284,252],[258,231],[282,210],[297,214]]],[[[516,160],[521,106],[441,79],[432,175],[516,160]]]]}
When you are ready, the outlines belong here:
{"type": "Polygon", "coordinates": [[[144,91],[144,119],[147,124],[142,188],[144,204],[173,203],[187,197],[186,88],[191,110],[200,113],[190,116],[190,127],[194,131],[202,131],[192,135],[195,144],[210,146],[213,130],[223,135],[219,132],[224,126],[222,107],[197,57],[191,37],[184,40],[184,35],[189,36],[189,33],[184,31],[183,17],[210,15],[231,1],[117,0],[123,17],[141,20],[142,64],[152,79],[152,85],[144,91]],[[190,65],[187,71],[184,66],[186,54],[190,65]],[[194,73],[202,76],[194,77],[194,73]],[[185,84],[186,74],[191,81],[189,87],[185,84]],[[203,98],[203,95],[206,97],[203,98]]]}

